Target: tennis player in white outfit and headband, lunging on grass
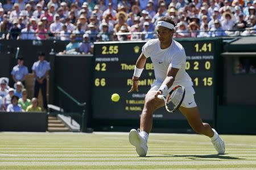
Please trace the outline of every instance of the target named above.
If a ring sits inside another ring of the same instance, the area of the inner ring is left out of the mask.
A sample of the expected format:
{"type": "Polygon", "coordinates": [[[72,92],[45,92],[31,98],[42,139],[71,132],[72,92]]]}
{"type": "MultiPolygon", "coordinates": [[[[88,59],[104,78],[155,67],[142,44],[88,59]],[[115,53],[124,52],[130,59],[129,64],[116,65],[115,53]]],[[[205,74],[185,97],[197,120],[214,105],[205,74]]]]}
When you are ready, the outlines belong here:
{"type": "Polygon", "coordinates": [[[147,155],[147,139],[152,128],[153,112],[164,106],[164,101],[158,99],[159,94],[166,95],[176,85],[185,87],[185,97],[179,110],[187,118],[189,125],[198,134],[208,136],[218,154],[225,153],[225,144],[216,130],[208,123],[203,123],[194,99],[193,82],[185,72],[186,55],[182,45],[172,39],[175,33],[175,22],[169,16],[161,17],[156,25],[158,39],[148,40],[142,47],[133,74],[133,86],[129,93],[138,92],[138,80],[148,57],[154,65],[155,82],[151,85],[145,97],[141,114],[140,129],[132,129],[129,134],[130,143],[136,147],[139,156],[147,155]]]}

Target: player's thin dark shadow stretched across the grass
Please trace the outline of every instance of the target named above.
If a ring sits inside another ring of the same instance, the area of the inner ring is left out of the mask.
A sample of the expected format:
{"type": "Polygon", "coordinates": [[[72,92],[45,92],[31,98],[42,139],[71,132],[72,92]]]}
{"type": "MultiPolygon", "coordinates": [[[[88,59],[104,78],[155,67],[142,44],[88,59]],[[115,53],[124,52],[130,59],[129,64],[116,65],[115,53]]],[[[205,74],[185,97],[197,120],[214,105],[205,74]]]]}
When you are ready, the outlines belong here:
{"type": "Polygon", "coordinates": [[[158,156],[147,156],[147,157],[187,157],[187,159],[191,160],[197,160],[197,159],[207,159],[207,158],[214,158],[214,159],[243,159],[240,157],[233,157],[233,156],[227,156],[228,154],[225,155],[169,155],[169,154],[164,154],[164,155],[158,155],[158,156]]]}

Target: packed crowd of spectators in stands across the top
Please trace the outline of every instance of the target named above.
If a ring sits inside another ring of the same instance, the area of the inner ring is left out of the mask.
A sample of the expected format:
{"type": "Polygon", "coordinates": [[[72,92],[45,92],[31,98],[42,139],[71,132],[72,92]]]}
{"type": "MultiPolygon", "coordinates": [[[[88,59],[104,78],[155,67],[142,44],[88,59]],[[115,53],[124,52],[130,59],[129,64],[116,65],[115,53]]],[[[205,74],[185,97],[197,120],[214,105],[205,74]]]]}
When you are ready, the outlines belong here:
{"type": "Polygon", "coordinates": [[[3,39],[151,39],[167,15],[175,37],[247,36],[255,35],[255,8],[256,0],[6,0],[0,32],[3,39]]]}

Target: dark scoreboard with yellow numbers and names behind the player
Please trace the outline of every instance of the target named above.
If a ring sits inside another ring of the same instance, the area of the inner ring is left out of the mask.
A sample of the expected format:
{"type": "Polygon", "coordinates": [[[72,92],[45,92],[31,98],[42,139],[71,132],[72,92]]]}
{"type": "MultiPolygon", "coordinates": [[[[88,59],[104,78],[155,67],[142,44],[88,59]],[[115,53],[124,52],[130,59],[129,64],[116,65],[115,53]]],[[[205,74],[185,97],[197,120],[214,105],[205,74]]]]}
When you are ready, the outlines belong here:
{"type": "MultiPolygon", "coordinates": [[[[195,100],[201,118],[214,117],[214,59],[220,51],[217,39],[181,40],[186,52],[186,70],[191,76],[195,100]]],[[[108,42],[94,44],[93,118],[139,119],[144,97],[154,82],[154,67],[150,58],[139,80],[139,92],[127,93],[133,84],[135,63],[146,42],[108,42]],[[118,102],[111,101],[113,93],[120,95],[118,102]]],[[[168,113],[164,107],[155,111],[154,119],[184,119],[177,111],[168,113]]]]}

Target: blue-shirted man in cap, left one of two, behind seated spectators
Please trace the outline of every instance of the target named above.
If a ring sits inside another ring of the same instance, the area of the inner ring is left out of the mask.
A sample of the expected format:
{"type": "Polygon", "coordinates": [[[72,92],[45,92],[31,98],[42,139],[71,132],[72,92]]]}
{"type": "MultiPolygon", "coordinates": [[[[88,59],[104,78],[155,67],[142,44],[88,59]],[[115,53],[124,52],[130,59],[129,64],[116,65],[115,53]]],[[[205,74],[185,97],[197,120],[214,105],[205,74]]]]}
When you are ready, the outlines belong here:
{"type": "Polygon", "coordinates": [[[11,75],[13,77],[14,82],[18,82],[18,81],[24,82],[27,74],[28,74],[28,69],[24,65],[23,57],[18,57],[18,64],[15,65],[13,70],[11,71],[11,75]]]}

